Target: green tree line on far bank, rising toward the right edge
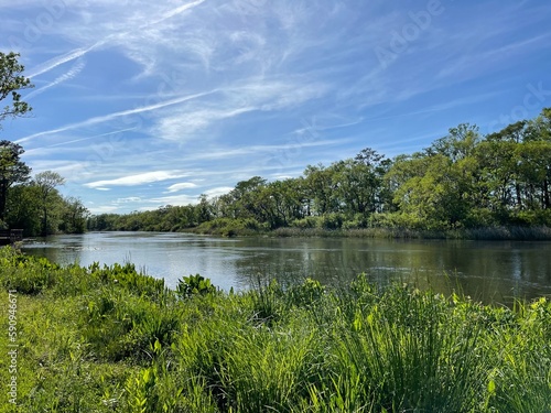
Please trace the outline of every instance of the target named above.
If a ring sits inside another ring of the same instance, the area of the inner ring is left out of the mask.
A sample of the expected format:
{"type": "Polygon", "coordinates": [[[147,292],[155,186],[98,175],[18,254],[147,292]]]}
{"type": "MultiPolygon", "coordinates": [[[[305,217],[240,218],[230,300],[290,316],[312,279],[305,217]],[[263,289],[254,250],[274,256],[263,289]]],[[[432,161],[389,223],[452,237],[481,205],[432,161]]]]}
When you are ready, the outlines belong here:
{"type": "Polygon", "coordinates": [[[220,227],[447,230],[551,226],[551,108],[482,135],[463,123],[429,148],[388,159],[366,148],[295,178],[240,181],[196,205],[88,219],[90,230],[220,227]]]}

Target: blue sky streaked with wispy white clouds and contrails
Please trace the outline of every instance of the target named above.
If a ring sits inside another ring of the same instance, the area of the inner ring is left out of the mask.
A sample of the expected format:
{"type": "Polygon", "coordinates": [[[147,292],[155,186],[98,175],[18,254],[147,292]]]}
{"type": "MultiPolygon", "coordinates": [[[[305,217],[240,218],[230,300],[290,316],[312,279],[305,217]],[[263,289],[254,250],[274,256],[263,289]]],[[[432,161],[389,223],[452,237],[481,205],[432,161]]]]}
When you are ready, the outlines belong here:
{"type": "Polygon", "coordinates": [[[94,214],[551,107],[545,0],[0,0],[0,19],[35,85],[0,139],[94,214]]]}

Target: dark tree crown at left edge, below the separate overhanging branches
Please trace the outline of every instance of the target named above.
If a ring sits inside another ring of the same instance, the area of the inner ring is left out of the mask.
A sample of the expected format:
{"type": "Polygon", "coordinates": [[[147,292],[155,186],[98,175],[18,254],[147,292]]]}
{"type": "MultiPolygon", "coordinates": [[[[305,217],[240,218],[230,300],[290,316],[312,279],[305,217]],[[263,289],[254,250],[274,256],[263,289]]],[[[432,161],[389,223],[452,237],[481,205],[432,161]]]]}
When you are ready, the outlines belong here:
{"type": "Polygon", "coordinates": [[[0,220],[6,218],[8,189],[14,184],[29,181],[31,169],[20,160],[23,153],[21,145],[0,141],[0,220]]]}

